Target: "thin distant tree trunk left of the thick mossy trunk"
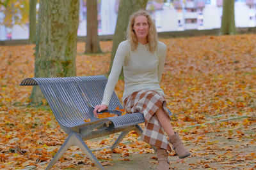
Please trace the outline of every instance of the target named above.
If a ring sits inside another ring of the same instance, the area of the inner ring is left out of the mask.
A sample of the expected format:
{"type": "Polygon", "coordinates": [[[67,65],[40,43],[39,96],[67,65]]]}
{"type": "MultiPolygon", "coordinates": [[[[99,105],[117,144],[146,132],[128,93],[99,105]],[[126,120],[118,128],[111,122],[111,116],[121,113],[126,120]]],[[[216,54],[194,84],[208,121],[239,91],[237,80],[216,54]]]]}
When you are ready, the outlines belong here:
{"type": "Polygon", "coordinates": [[[36,1],[29,0],[29,43],[35,43],[36,36],[36,1]]]}

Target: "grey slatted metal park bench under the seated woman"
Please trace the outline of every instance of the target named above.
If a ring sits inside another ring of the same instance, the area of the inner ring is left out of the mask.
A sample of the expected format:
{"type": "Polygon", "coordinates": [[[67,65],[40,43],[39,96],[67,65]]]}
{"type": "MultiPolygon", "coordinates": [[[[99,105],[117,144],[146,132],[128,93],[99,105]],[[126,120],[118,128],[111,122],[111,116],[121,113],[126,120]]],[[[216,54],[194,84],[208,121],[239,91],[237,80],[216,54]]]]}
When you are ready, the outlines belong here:
{"type": "MultiPolygon", "coordinates": [[[[115,110],[117,106],[123,109],[115,92],[109,102],[108,110],[101,112],[115,113],[119,116],[100,119],[94,117],[93,106],[101,103],[107,81],[105,76],[84,76],[26,78],[20,83],[20,85],[39,85],[58,124],[68,134],[68,138],[46,169],[51,169],[63,153],[74,145],[79,146],[95,166],[104,169],[84,140],[121,132],[111,146],[113,150],[129,131],[136,131],[139,134],[143,132],[138,125],[144,122],[141,113],[121,115],[120,111],[115,110]]],[[[172,113],[170,112],[169,115],[172,113]]]]}

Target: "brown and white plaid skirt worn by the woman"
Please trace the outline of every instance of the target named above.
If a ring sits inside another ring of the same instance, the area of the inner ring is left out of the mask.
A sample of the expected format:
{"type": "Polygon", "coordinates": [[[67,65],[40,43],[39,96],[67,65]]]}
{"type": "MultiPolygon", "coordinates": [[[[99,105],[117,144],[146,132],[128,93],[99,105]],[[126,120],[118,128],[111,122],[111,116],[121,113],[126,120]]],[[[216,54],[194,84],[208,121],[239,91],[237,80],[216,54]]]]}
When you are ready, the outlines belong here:
{"type": "MultiPolygon", "coordinates": [[[[133,92],[124,100],[126,113],[142,113],[145,118],[145,129],[141,139],[150,145],[171,151],[168,139],[164,135],[164,130],[156,117],[156,111],[163,107],[167,117],[166,101],[164,97],[154,90],[140,90],[133,92]]],[[[171,118],[170,118],[171,120],[171,118]]]]}

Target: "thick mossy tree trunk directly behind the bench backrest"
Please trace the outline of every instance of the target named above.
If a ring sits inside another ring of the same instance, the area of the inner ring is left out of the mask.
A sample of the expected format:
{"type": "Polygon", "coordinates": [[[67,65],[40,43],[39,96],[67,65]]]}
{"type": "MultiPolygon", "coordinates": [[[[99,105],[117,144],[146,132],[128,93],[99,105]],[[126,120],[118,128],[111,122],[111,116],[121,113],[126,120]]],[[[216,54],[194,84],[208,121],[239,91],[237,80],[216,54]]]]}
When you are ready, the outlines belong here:
{"type": "MultiPolygon", "coordinates": [[[[40,1],[36,29],[35,77],[76,76],[79,0],[40,1]]],[[[42,104],[34,87],[31,104],[42,104]]]]}

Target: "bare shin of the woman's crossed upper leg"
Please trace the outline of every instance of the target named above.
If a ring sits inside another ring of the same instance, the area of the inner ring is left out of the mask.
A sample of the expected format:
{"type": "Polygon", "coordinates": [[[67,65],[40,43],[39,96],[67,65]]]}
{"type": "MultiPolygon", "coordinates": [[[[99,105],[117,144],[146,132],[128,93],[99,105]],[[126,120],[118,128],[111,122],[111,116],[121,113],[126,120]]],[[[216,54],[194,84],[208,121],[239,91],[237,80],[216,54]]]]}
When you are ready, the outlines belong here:
{"type": "Polygon", "coordinates": [[[164,113],[163,108],[159,108],[159,110],[156,111],[156,117],[159,120],[159,123],[164,129],[164,132],[168,134],[168,136],[173,136],[174,131],[172,129],[172,124],[170,122],[170,119],[167,117],[167,115],[164,113]]]}

